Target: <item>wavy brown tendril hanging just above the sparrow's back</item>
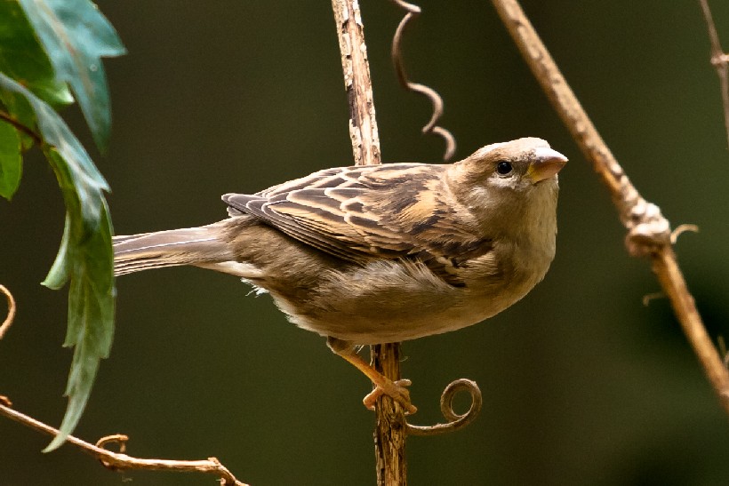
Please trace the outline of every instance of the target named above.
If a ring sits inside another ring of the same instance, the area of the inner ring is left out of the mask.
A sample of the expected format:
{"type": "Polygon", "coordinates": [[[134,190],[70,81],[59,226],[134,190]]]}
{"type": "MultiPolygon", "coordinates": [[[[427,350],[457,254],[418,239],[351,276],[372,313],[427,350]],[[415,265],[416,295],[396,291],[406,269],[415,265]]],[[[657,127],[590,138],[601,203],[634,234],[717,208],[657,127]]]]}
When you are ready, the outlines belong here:
{"type": "Polygon", "coordinates": [[[426,86],[425,84],[412,83],[407,79],[405,74],[405,64],[403,62],[403,52],[400,48],[400,44],[403,40],[403,34],[405,33],[405,27],[410,20],[421,14],[421,8],[417,5],[408,4],[402,0],[391,0],[393,4],[407,11],[403,20],[400,20],[400,24],[397,26],[395,36],[392,38],[392,63],[395,65],[395,73],[397,74],[397,81],[403,85],[406,90],[411,92],[418,92],[427,97],[430,103],[433,105],[433,115],[430,116],[430,121],[422,127],[422,132],[425,134],[433,133],[439,135],[445,140],[445,155],[443,160],[448,161],[455,154],[455,139],[450,131],[445,130],[442,126],[437,126],[437,121],[443,116],[443,99],[440,95],[426,86]]]}

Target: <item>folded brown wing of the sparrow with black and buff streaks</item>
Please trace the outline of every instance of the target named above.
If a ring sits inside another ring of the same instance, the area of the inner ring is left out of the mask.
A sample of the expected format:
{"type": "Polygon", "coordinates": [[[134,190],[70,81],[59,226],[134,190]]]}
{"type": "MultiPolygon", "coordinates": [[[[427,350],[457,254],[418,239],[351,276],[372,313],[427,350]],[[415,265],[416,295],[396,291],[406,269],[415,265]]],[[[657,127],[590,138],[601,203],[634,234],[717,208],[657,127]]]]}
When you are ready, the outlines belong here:
{"type": "Polygon", "coordinates": [[[421,259],[447,281],[459,262],[492,246],[459,209],[444,171],[416,163],[327,169],[223,200],[231,214],[252,214],[341,259],[421,259]]]}

